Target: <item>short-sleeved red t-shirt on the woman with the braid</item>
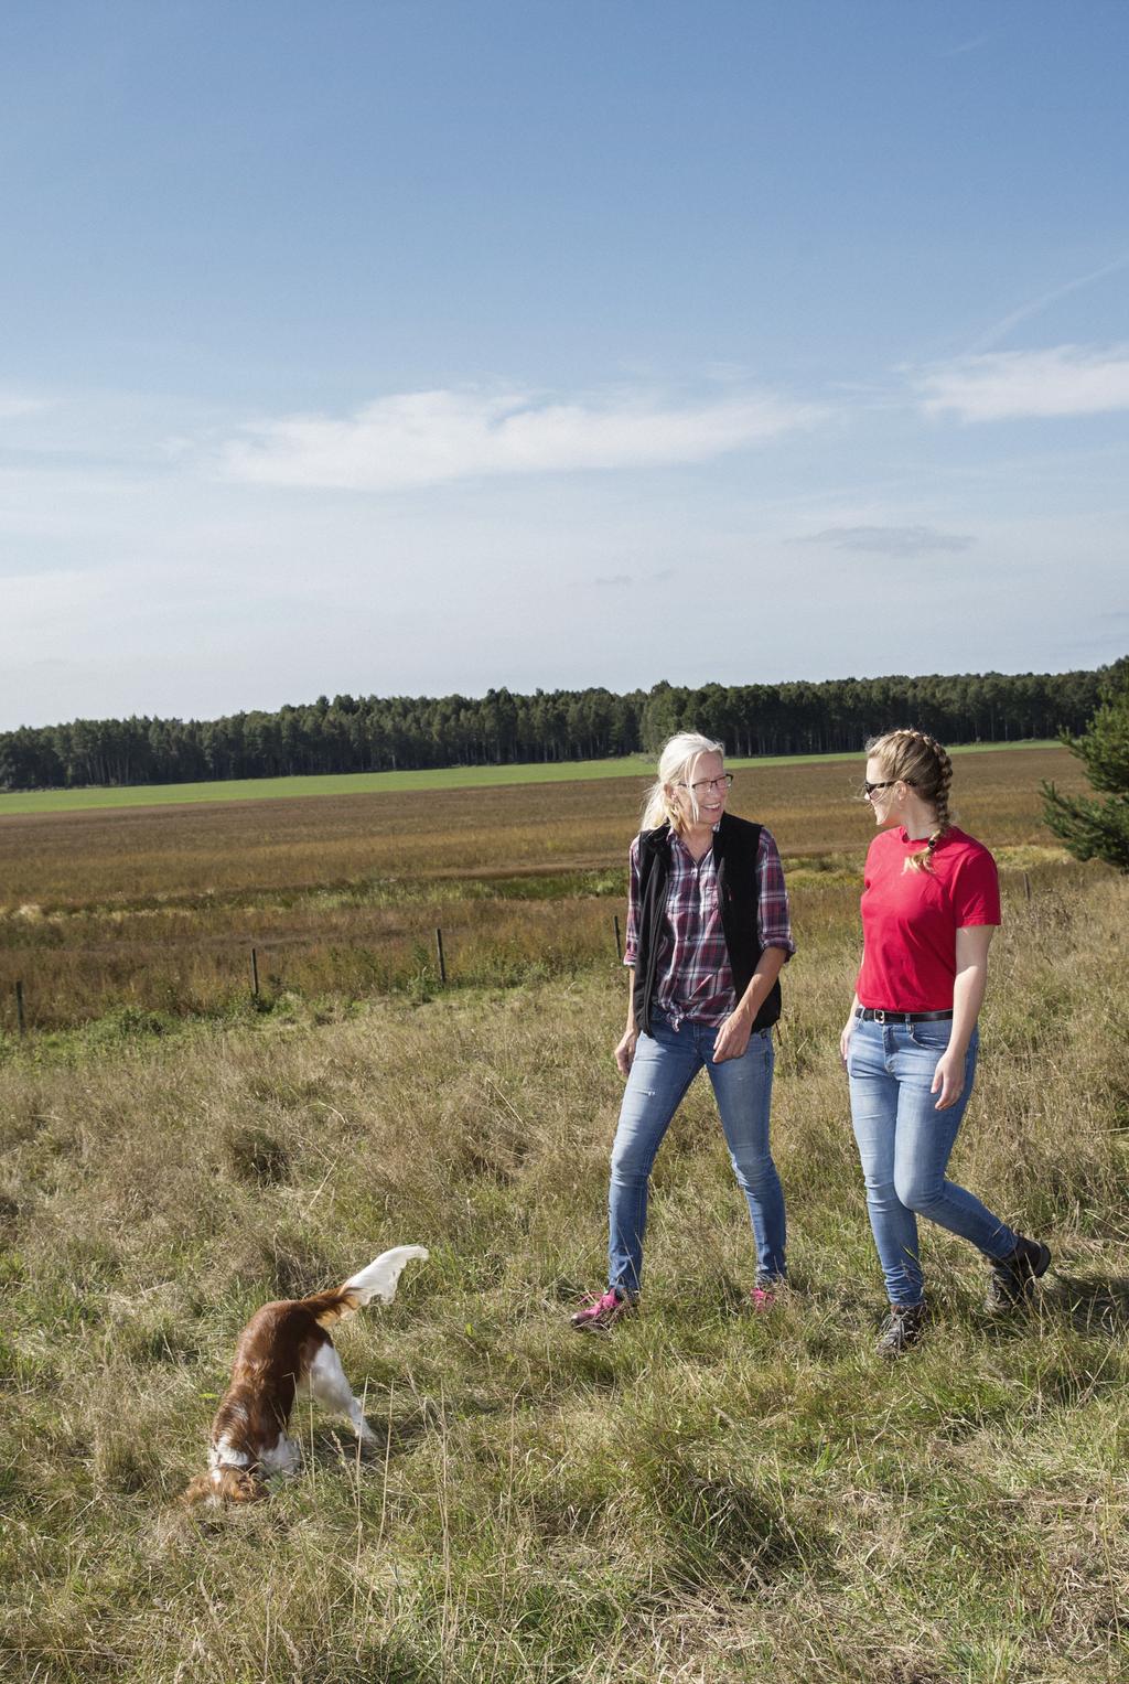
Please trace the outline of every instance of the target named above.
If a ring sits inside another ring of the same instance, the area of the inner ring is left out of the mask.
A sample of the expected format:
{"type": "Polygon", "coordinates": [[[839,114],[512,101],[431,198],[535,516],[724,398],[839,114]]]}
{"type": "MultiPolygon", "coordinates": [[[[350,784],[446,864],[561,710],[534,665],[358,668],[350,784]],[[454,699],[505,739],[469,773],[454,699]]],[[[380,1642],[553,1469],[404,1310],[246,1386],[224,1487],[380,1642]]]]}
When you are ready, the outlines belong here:
{"type": "Polygon", "coordinates": [[[904,827],[870,844],[863,877],[863,963],[858,999],[893,1012],[947,1012],[956,977],[956,933],[999,923],[996,861],[983,842],[946,830],[932,871],[905,861],[924,844],[904,827]]]}

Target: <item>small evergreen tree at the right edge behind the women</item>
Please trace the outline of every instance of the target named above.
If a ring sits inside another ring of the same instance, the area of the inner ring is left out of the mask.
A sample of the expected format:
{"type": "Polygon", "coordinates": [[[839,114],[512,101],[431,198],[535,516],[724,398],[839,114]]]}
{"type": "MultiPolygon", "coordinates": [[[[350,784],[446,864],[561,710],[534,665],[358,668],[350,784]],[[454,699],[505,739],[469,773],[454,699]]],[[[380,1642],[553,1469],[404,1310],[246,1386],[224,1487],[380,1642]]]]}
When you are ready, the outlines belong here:
{"type": "Polygon", "coordinates": [[[1104,859],[1129,871],[1129,657],[1119,660],[1082,736],[1062,741],[1085,765],[1105,800],[1060,795],[1043,785],[1043,817],[1075,859],[1104,859]]]}

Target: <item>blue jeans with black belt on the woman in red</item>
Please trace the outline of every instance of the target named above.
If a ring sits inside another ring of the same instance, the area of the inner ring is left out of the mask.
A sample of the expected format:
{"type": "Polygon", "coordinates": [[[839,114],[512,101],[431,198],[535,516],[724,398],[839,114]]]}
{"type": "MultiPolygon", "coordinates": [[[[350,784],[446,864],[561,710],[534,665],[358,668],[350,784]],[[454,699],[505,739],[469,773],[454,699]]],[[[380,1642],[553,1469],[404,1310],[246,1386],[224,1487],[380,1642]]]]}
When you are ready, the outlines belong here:
{"type": "Polygon", "coordinates": [[[964,1091],[956,1105],[939,1111],[930,1086],[951,1034],[949,1019],[930,1024],[860,1019],[850,1042],[851,1122],[890,1303],[920,1303],[924,1297],[919,1216],[971,1239],[989,1258],[1015,1251],[1020,1238],[971,1192],[946,1180],[979,1046],[974,1031],[964,1059],[964,1091]]]}

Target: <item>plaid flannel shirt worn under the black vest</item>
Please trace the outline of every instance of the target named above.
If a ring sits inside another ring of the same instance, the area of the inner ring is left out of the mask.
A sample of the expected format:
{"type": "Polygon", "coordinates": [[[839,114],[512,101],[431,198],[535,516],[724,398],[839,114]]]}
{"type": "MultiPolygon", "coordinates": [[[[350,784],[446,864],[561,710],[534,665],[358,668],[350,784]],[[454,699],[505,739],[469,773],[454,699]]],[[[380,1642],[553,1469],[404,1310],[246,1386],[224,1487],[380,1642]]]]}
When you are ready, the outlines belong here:
{"type": "MultiPolygon", "coordinates": [[[[715,827],[717,829],[717,827],[715,827]]],[[[757,847],[757,943],[796,951],[784,887],[784,867],[772,835],[762,827],[757,847]]],[[[631,844],[628,887],[628,940],[624,965],[634,965],[639,936],[639,839],[631,844]]],[[[717,1027],[737,1005],[737,989],[729,965],[722,913],[717,903],[713,849],[695,861],[676,832],[671,832],[670,879],[663,931],[655,975],[655,1009],[675,1029],[683,1017],[717,1027]]]]}

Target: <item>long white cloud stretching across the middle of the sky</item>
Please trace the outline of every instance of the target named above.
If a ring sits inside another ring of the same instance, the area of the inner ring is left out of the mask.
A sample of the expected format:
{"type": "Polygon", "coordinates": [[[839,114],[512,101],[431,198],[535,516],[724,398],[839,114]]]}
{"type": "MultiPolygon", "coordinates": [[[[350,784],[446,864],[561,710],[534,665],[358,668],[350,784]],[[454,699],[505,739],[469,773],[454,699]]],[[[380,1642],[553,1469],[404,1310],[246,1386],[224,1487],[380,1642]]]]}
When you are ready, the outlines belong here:
{"type": "Polygon", "coordinates": [[[222,463],[225,477],[256,485],[392,492],[483,475],[707,461],[821,416],[767,392],[666,408],[643,396],[537,402],[517,392],[400,392],[347,419],[249,424],[225,445],[222,463]]]}

